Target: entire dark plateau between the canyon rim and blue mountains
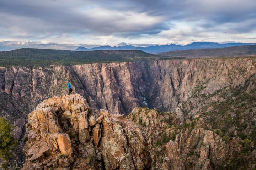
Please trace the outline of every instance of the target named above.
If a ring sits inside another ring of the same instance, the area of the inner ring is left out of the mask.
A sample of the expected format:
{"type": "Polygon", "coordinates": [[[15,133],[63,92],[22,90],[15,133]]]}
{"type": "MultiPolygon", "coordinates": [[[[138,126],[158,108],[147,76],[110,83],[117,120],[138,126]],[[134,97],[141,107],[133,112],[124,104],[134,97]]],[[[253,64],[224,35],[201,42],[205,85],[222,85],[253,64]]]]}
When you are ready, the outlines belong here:
{"type": "Polygon", "coordinates": [[[163,52],[159,55],[141,50],[93,50],[70,51],[50,49],[17,49],[0,52],[0,67],[77,65],[146,60],[167,60],[204,57],[255,56],[256,45],[234,46],[216,49],[192,49],[163,52]]]}

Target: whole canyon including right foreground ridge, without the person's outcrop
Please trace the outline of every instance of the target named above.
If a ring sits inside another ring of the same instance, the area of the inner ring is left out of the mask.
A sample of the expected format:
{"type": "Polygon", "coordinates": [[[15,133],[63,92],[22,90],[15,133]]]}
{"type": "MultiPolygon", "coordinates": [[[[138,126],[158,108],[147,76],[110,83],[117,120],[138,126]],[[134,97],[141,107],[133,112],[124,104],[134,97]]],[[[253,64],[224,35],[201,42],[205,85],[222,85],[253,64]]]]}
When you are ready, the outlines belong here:
{"type": "Polygon", "coordinates": [[[114,115],[131,113],[128,118],[145,132],[149,151],[155,153],[151,155],[152,169],[231,167],[222,165],[219,159],[240,161],[242,147],[247,147],[243,157],[248,160],[247,168],[252,169],[256,140],[255,66],[255,57],[240,57],[0,67],[0,115],[14,124],[15,138],[20,141],[15,153],[22,155],[28,113],[47,98],[66,95],[67,82],[71,80],[74,92],[85,99],[92,112],[106,109],[114,115]],[[142,113],[137,107],[149,110],[142,113]],[[153,112],[155,123],[146,120],[150,117],[147,114],[153,112]],[[163,124],[166,120],[167,124],[163,124]],[[158,126],[161,130],[153,131],[150,137],[149,129],[158,126]],[[169,141],[159,142],[163,135],[169,141]],[[235,146],[240,148],[238,152],[232,149],[235,146]],[[159,157],[164,147],[165,156],[159,157]],[[219,150],[223,153],[217,153],[219,150]],[[194,162],[198,155],[200,164],[194,162]]]}

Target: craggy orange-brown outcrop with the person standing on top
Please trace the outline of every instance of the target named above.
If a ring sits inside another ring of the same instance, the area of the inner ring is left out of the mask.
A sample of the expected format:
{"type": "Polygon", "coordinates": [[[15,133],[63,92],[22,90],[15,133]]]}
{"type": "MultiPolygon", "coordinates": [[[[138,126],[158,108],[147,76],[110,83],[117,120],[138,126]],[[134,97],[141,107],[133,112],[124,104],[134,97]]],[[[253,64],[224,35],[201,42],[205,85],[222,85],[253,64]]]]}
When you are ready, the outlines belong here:
{"type": "Polygon", "coordinates": [[[91,113],[79,94],[38,104],[28,115],[24,142],[23,170],[151,167],[147,141],[139,128],[124,115],[106,110],[91,113]]]}

